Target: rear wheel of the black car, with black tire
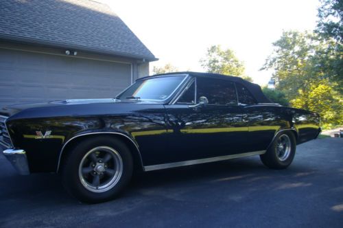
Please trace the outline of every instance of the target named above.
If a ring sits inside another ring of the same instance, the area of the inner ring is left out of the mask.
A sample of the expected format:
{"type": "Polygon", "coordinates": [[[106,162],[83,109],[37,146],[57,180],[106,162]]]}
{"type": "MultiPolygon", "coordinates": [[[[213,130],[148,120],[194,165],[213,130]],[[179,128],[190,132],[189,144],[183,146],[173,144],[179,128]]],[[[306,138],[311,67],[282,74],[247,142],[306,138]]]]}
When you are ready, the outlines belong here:
{"type": "Polygon", "coordinates": [[[260,155],[260,158],[263,164],[268,168],[282,170],[287,168],[292,163],[295,154],[296,138],[292,132],[287,131],[276,135],[267,152],[265,152],[263,155],[260,155]],[[285,150],[283,153],[281,148],[285,148],[285,146],[281,141],[285,142],[287,140],[289,140],[289,150],[285,150]],[[280,146],[279,148],[280,144],[283,144],[283,146],[280,146]]]}

